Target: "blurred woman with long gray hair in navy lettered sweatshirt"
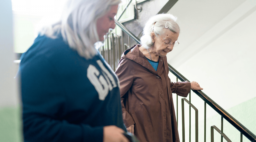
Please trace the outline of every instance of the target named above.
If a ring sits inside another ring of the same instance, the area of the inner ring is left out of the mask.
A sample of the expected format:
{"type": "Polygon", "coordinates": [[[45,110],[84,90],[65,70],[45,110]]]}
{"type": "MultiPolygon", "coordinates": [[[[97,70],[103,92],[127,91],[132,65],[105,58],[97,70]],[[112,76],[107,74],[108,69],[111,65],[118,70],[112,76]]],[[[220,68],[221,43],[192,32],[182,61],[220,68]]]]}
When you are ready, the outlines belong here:
{"type": "Polygon", "coordinates": [[[121,0],[68,0],[21,56],[25,142],[128,142],[119,82],[94,48],[121,0]]]}

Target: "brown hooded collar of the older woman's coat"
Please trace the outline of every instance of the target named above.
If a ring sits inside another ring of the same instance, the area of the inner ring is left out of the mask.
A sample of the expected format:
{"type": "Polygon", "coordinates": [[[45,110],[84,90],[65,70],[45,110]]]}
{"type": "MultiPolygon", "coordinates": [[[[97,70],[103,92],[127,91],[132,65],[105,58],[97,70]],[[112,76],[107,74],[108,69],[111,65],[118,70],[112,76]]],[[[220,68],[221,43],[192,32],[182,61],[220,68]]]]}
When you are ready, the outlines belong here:
{"type": "Polygon", "coordinates": [[[127,49],[124,51],[124,54],[122,55],[122,58],[128,58],[140,65],[142,65],[143,67],[147,68],[150,72],[154,73],[154,74],[158,74],[157,71],[158,68],[162,68],[163,63],[164,63],[164,58],[166,58],[166,56],[161,57],[159,56],[159,63],[158,63],[158,67],[157,67],[157,71],[152,67],[152,65],[148,62],[147,58],[143,55],[142,52],[140,52],[139,47],[141,45],[137,44],[132,46],[130,49],[127,49]]]}

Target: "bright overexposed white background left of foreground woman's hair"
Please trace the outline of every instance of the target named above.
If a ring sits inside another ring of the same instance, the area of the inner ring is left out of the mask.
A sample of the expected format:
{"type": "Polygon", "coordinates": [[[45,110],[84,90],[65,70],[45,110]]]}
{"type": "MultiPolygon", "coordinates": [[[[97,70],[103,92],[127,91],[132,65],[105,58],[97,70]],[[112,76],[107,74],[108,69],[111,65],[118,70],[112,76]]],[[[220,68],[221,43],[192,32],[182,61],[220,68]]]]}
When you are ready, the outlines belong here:
{"type": "Polygon", "coordinates": [[[26,52],[43,25],[58,21],[66,1],[12,0],[14,52],[26,52]]]}

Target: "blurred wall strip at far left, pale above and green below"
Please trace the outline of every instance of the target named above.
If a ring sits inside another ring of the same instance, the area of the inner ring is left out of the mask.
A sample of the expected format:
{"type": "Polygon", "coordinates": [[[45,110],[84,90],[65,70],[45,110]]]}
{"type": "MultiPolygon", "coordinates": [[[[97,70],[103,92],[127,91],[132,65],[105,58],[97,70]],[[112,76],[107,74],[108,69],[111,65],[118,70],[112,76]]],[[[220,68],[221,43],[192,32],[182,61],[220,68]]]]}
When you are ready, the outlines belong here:
{"type": "Polygon", "coordinates": [[[14,80],[11,0],[0,1],[0,19],[0,141],[18,142],[21,128],[14,80]]]}

